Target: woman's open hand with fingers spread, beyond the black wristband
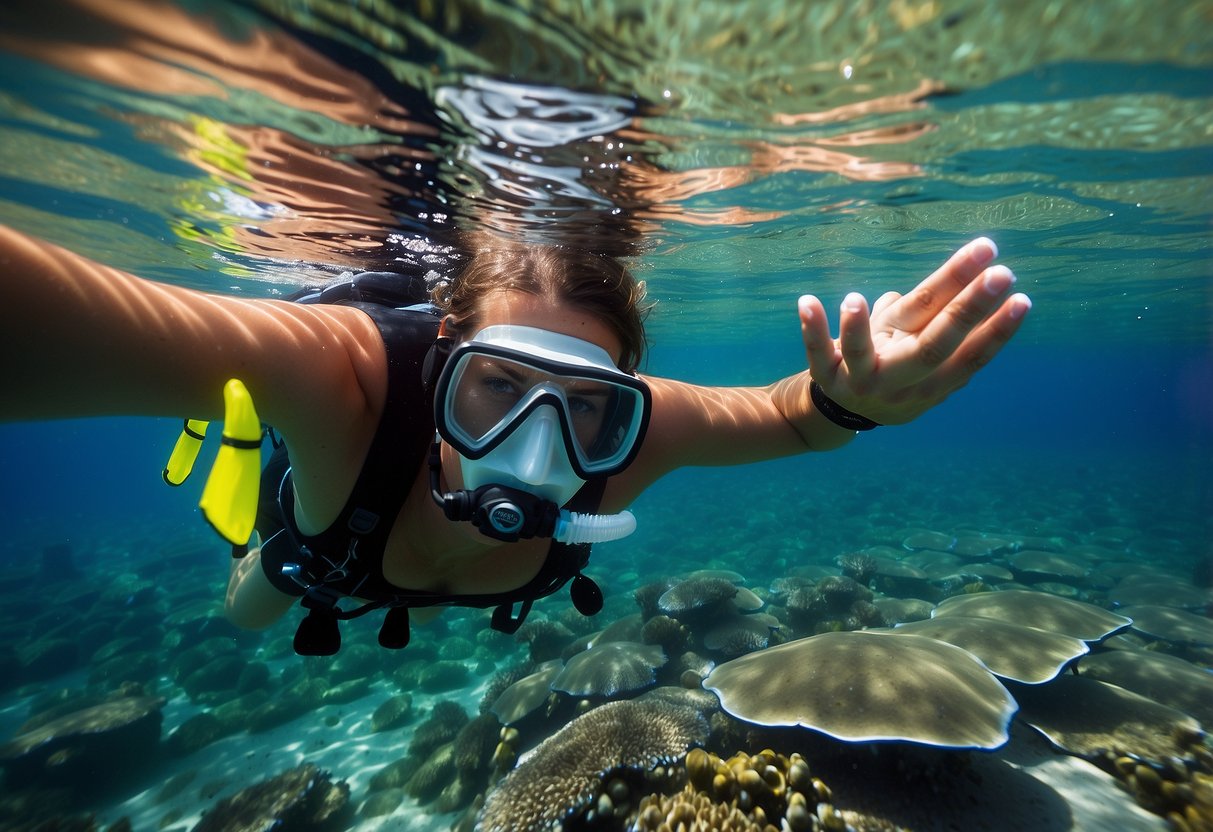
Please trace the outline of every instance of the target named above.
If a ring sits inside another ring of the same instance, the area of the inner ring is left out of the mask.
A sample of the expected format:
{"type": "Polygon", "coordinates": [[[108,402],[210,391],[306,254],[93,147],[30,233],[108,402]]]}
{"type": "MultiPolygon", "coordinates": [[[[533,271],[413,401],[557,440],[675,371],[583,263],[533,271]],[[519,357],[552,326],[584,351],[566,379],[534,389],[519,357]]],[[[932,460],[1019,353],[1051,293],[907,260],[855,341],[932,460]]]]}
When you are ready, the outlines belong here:
{"type": "Polygon", "coordinates": [[[998,250],[973,240],[907,295],[842,303],[837,340],[821,301],[799,301],[813,380],[827,397],[881,424],[909,422],[959,389],[1019,329],[1032,302],[1009,295],[1015,275],[990,266],[998,250]]]}

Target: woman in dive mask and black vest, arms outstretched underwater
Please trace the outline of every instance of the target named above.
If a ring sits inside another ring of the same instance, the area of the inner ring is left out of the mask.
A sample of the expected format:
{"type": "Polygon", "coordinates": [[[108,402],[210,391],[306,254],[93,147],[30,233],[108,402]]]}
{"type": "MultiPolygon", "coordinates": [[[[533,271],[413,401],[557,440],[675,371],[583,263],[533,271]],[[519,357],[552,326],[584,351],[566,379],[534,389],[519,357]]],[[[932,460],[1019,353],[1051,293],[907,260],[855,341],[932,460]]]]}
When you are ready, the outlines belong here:
{"type": "Polygon", "coordinates": [[[211,420],[239,378],[286,450],[262,480],[261,547],[233,560],[229,619],[264,627],[302,598],[296,648],[331,653],[351,598],[387,608],[380,640],[402,646],[410,608],[495,606],[508,631],[571,580],[596,611],[588,545],[627,534],[623,509],[660,477],[909,422],[1031,307],[983,238],[906,295],[848,295],[837,340],[802,297],[809,370],[701,387],[637,374],[643,284],[616,260],[473,238],[434,313],[354,285],[338,302],[204,294],[0,228],[0,361],[21,392],[0,417],[211,420]]]}

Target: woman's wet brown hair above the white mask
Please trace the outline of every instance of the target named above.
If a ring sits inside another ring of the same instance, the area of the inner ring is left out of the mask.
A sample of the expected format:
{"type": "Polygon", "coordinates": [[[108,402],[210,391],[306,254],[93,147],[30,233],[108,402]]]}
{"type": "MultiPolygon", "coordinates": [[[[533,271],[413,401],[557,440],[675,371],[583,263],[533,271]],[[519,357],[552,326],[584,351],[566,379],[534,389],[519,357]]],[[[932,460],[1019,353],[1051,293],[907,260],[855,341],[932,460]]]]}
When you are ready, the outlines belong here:
{"type": "Polygon", "coordinates": [[[439,284],[433,301],[465,332],[478,329],[479,301],[513,290],[562,301],[592,314],[619,338],[619,367],[634,372],[648,341],[644,281],[615,257],[566,245],[518,243],[489,232],[466,238],[471,252],[463,268],[439,284]]]}

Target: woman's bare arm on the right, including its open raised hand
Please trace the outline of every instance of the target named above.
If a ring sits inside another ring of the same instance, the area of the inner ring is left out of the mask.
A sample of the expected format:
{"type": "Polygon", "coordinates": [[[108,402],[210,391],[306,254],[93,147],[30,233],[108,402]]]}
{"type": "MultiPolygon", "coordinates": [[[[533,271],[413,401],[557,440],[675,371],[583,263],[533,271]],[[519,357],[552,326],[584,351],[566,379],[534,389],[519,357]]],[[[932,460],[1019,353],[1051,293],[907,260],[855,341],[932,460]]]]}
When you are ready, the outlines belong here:
{"type": "MultiPolygon", "coordinates": [[[[952,255],[906,295],[889,292],[869,312],[859,294],[842,306],[838,338],[816,297],[799,301],[809,369],[768,387],[696,387],[648,380],[653,421],[636,463],[614,485],[626,502],[665,473],[690,465],[739,465],[830,450],[854,431],[813,404],[810,382],[838,406],[879,424],[909,422],[963,387],[997,354],[1031,308],[1012,295],[1014,275],[991,266],[981,238],[952,255]]],[[[617,496],[616,496],[617,495],[617,496]]]]}

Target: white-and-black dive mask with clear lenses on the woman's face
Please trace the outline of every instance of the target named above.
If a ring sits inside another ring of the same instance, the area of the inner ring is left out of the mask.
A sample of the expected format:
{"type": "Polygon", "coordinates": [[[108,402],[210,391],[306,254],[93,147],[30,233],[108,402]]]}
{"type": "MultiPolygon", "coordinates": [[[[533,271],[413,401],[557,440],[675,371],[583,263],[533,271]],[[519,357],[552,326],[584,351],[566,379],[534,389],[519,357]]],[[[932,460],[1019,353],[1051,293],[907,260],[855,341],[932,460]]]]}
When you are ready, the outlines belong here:
{"type": "Polygon", "coordinates": [[[605,349],[531,326],[486,326],[456,344],[434,389],[465,488],[501,484],[557,506],[632,462],[650,410],[648,386],[605,349]]]}

